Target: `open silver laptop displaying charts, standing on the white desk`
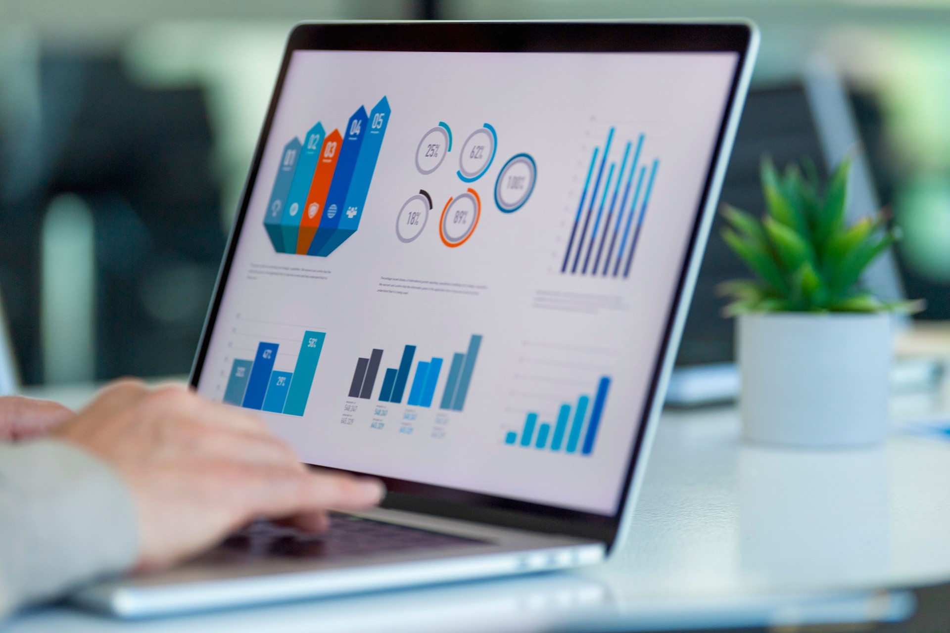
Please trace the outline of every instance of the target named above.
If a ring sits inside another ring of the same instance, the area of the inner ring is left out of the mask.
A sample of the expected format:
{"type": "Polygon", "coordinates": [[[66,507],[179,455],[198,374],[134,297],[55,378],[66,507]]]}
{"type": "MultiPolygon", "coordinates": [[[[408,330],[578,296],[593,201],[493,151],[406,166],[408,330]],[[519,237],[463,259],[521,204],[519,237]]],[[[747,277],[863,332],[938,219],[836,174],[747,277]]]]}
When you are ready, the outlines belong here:
{"type": "Polygon", "coordinates": [[[75,601],[155,616],[618,549],[757,44],[743,22],[295,27],[191,384],[390,493],[75,601]]]}

